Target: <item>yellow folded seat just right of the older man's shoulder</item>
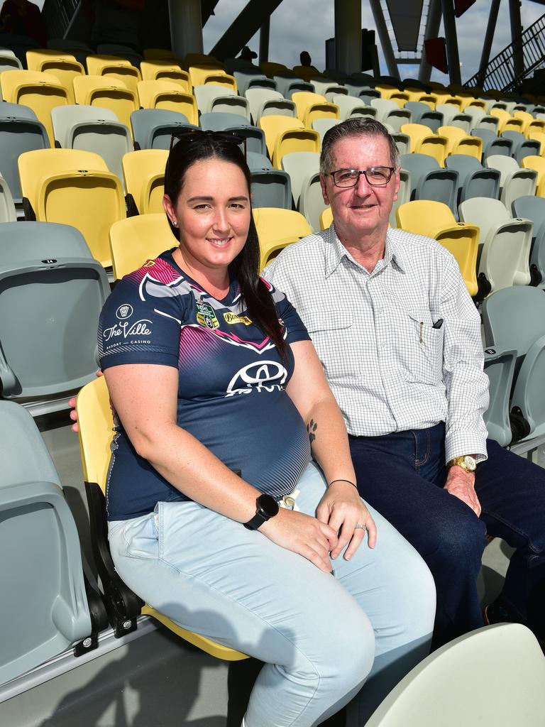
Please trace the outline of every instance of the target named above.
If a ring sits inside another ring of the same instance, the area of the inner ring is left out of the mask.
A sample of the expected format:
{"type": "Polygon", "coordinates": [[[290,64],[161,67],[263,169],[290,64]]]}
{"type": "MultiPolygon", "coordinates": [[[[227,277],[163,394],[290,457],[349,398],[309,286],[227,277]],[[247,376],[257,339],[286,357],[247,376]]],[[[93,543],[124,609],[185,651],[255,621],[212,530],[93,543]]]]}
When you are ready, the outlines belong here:
{"type": "Polygon", "coordinates": [[[479,228],[456,222],[448,205],[419,199],[405,202],[395,213],[397,227],[432,237],[456,258],[469,294],[477,295],[477,250],[479,228]]]}

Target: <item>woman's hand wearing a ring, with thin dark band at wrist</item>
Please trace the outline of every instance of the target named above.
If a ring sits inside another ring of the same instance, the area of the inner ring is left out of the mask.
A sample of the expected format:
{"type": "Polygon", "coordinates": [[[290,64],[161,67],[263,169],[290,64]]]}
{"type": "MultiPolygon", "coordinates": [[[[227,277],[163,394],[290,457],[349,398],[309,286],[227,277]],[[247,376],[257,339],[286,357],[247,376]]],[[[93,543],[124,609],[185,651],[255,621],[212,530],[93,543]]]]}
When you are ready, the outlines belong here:
{"type": "Polygon", "coordinates": [[[328,523],[331,529],[339,533],[337,544],[331,550],[331,558],[336,558],[342,553],[344,547],[350,542],[344,553],[344,558],[349,561],[358,550],[366,530],[369,547],[376,545],[374,520],[358,490],[350,482],[339,480],[331,483],[320,500],[316,517],[320,522],[328,523]],[[356,525],[364,525],[365,528],[356,528],[356,525]]]}

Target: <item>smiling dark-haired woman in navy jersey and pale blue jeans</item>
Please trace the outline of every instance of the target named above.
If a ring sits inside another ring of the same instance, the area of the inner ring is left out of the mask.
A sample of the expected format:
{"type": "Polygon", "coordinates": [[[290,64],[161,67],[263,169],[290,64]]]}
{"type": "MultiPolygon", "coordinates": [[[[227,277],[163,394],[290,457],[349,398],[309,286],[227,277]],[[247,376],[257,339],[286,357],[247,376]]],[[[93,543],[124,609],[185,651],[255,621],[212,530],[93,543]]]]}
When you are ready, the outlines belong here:
{"type": "Polygon", "coordinates": [[[121,423],[110,547],[145,601],[267,662],[247,727],[310,727],[358,692],[376,650],[373,711],[424,655],[435,591],[358,496],[308,334],[257,275],[241,141],[190,132],[171,148],[163,206],[179,247],[126,276],[102,311],[121,423]]]}

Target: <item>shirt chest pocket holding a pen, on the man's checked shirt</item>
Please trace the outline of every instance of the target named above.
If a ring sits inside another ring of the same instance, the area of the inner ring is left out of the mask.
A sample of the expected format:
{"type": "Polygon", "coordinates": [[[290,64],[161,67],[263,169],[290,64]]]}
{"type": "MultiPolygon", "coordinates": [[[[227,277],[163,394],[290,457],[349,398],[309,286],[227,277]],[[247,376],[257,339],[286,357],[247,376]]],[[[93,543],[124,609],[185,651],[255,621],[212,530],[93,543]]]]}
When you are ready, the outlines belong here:
{"type": "Polygon", "coordinates": [[[411,383],[439,384],[443,380],[444,325],[434,328],[429,310],[402,316],[403,332],[395,348],[403,378],[411,383]]]}

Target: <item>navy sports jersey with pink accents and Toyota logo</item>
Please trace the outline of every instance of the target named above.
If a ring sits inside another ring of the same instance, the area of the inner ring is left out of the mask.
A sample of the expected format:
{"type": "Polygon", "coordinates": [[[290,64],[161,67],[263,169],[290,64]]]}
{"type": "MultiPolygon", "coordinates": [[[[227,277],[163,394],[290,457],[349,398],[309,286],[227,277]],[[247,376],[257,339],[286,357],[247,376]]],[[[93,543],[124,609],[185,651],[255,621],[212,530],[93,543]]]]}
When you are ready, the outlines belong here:
{"type": "MultiPolygon", "coordinates": [[[[293,306],[267,283],[288,343],[310,340],[293,306]]],[[[162,364],[179,371],[177,424],[262,492],[291,492],[310,461],[304,422],[285,391],[294,370],[241,309],[231,281],[211,297],[170,252],[125,276],[100,316],[100,366],[162,364]]],[[[157,502],[185,500],[146,459],[123,427],[112,443],[109,520],[150,513],[157,502]]]]}

